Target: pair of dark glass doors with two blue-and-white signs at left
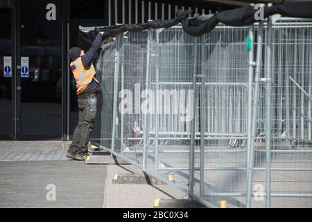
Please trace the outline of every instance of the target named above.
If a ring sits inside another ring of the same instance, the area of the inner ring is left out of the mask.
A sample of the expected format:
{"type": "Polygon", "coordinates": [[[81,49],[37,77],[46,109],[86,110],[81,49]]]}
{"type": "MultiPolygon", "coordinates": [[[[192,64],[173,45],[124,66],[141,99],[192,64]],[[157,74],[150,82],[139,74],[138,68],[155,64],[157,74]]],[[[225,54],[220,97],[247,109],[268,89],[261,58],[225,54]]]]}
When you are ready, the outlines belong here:
{"type": "Polygon", "coordinates": [[[64,139],[63,5],[0,1],[0,139],[64,139]]]}

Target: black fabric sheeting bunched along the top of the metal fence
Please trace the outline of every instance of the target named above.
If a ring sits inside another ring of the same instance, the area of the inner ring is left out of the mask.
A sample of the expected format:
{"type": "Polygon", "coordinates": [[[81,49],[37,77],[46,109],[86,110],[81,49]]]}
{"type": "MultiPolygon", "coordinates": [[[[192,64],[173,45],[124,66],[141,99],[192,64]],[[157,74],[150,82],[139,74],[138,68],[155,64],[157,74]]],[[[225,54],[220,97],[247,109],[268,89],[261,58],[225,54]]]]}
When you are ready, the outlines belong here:
{"type": "MultiPolygon", "coordinates": [[[[311,1],[276,4],[272,7],[264,7],[263,9],[264,18],[275,14],[280,14],[283,17],[312,18],[311,1]]],[[[108,38],[127,31],[139,32],[148,28],[170,28],[181,22],[182,28],[186,33],[192,36],[200,36],[211,32],[218,23],[223,23],[227,26],[250,26],[258,22],[254,19],[254,14],[257,10],[252,6],[243,6],[233,10],[218,12],[207,20],[198,19],[198,17],[187,19],[187,15],[190,12],[190,10],[179,10],[176,17],[170,20],[155,20],[143,24],[125,24],[101,29],[96,28],[89,33],[80,31],[80,48],[87,50],[99,31],[105,31],[103,37],[108,38]]]]}

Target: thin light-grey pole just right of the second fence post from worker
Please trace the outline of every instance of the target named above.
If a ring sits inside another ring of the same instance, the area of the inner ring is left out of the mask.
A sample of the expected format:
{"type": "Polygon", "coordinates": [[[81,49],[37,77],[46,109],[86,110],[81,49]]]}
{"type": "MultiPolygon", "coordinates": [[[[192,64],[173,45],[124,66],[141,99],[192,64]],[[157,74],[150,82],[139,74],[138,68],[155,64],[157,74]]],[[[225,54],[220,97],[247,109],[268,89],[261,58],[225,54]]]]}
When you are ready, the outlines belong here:
{"type": "Polygon", "coordinates": [[[159,29],[156,30],[156,112],[155,112],[155,173],[158,175],[158,132],[159,132],[159,29]]]}

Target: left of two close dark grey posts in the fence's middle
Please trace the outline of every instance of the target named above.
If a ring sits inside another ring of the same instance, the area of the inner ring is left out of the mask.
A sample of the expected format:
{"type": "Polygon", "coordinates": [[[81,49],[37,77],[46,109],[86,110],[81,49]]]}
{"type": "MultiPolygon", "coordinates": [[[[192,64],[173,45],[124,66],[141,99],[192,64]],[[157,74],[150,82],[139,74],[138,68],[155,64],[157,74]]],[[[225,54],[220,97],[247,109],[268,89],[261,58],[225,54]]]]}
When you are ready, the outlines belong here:
{"type": "Polygon", "coordinates": [[[195,151],[195,114],[196,114],[196,91],[197,91],[197,53],[198,53],[198,37],[195,38],[194,44],[194,63],[193,63],[193,110],[192,110],[192,121],[191,121],[191,144],[189,154],[189,198],[194,192],[194,151],[195,151]]]}

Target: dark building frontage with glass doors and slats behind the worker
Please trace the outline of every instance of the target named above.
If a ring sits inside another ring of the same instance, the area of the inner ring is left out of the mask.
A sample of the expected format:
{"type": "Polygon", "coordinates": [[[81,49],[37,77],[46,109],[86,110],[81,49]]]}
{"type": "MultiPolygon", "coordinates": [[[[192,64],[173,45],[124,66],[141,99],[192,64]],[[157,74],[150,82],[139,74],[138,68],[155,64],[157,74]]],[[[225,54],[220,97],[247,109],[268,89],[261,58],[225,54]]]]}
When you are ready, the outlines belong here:
{"type": "Polygon", "coordinates": [[[81,26],[168,19],[182,6],[193,3],[0,0],[0,139],[71,139],[78,108],[67,51],[79,46],[81,26]]]}

